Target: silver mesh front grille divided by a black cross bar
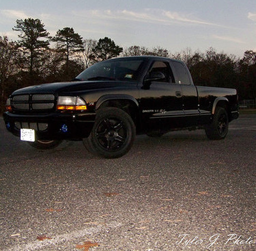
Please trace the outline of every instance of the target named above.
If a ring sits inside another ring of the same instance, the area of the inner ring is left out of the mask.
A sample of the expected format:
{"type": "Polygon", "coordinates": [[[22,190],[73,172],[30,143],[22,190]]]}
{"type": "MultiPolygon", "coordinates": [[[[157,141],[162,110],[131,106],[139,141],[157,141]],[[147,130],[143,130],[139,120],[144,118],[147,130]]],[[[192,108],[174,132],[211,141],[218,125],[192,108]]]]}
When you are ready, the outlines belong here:
{"type": "Polygon", "coordinates": [[[11,105],[17,111],[45,112],[53,109],[55,96],[53,94],[26,94],[12,98],[11,105]]]}

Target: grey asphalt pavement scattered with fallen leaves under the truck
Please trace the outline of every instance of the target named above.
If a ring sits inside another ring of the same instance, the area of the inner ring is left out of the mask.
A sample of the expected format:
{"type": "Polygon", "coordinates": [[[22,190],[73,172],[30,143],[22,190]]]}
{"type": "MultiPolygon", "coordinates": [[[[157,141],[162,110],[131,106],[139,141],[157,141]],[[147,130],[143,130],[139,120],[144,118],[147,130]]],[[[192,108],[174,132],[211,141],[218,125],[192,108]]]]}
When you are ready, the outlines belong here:
{"type": "Polygon", "coordinates": [[[256,116],[227,138],[140,135],[102,159],[37,150],[0,118],[0,250],[256,250],[256,116]]]}

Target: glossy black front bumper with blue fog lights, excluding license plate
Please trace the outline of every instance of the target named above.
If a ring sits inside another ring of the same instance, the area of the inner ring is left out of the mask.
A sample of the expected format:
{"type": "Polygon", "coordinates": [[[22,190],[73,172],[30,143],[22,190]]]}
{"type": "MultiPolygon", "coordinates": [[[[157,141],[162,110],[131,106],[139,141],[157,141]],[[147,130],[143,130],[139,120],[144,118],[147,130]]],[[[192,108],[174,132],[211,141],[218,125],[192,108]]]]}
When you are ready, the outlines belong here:
{"type": "Polygon", "coordinates": [[[20,137],[21,128],[36,130],[36,139],[82,139],[90,135],[95,113],[3,114],[6,128],[20,137]]]}

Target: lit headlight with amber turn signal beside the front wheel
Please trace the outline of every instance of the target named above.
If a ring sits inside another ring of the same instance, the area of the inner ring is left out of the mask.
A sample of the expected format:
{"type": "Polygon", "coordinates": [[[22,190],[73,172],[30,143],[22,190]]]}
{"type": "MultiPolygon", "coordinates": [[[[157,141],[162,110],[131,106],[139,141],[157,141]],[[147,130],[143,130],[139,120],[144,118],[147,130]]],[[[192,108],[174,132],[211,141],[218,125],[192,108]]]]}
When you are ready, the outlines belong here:
{"type": "Polygon", "coordinates": [[[58,97],[57,110],[84,111],[86,109],[86,102],[80,97],[58,97]]]}

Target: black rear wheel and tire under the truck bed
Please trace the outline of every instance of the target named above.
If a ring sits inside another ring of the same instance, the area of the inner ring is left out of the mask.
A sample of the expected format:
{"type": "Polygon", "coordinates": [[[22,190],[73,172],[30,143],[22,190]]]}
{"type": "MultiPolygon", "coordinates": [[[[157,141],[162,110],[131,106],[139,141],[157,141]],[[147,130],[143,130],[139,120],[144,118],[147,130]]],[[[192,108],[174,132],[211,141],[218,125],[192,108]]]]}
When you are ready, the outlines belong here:
{"type": "Polygon", "coordinates": [[[229,118],[226,109],[217,107],[213,116],[213,121],[205,128],[206,136],[209,139],[224,139],[228,134],[229,118]]]}

